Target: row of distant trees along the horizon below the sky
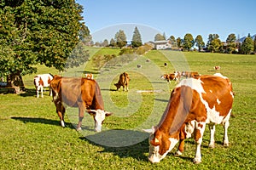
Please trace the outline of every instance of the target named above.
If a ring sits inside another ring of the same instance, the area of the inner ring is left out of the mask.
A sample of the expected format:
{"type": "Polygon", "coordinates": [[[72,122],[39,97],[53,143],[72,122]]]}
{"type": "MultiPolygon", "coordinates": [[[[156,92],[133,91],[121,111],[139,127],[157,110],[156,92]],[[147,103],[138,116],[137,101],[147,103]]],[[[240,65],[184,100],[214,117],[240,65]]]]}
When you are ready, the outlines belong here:
{"type": "MultiPolygon", "coordinates": [[[[187,33],[183,38],[171,36],[166,38],[166,34],[156,34],[154,36],[154,41],[168,40],[172,44],[172,49],[178,49],[183,51],[190,51],[193,47],[196,47],[199,52],[207,51],[212,53],[226,53],[226,54],[252,54],[256,52],[256,36],[251,37],[250,34],[240,42],[240,37],[236,37],[234,33],[231,33],[225,42],[221,42],[218,34],[209,34],[207,42],[203,41],[201,35],[195,38],[192,34],[187,33]]],[[[96,42],[96,46],[101,47],[119,47],[123,48],[127,45],[127,40],[125,36],[125,31],[119,30],[115,37],[110,40],[105,39],[102,43],[96,42]]],[[[142,37],[140,32],[135,27],[133,32],[131,48],[137,48],[143,45],[142,37]]]]}

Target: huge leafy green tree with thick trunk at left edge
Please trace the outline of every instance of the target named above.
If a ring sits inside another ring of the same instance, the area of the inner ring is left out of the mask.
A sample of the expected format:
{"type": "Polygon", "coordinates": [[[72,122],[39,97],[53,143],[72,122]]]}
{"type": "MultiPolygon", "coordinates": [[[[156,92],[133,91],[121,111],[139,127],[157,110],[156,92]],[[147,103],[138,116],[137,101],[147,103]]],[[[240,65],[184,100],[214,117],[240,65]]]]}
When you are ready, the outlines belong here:
{"type": "MultiPolygon", "coordinates": [[[[3,0],[0,8],[0,76],[7,76],[8,86],[19,91],[24,87],[21,76],[35,73],[38,63],[65,69],[86,29],[80,22],[82,6],[74,0],[3,0]]],[[[86,61],[86,53],[78,57],[86,61]]]]}

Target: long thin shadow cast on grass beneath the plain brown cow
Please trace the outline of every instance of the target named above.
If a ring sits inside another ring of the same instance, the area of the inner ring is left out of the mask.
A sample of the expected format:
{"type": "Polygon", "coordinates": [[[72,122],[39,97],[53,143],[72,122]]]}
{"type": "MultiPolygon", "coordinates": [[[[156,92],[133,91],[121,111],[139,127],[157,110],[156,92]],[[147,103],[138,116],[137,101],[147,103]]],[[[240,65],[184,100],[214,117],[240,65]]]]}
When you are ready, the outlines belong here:
{"type": "MultiPolygon", "coordinates": [[[[43,123],[47,125],[55,125],[55,126],[61,126],[60,121],[45,119],[45,118],[38,118],[38,117],[20,117],[20,116],[13,116],[12,119],[20,122],[32,122],[32,123],[43,123]]],[[[74,129],[73,124],[70,122],[65,122],[66,127],[74,129]]]]}

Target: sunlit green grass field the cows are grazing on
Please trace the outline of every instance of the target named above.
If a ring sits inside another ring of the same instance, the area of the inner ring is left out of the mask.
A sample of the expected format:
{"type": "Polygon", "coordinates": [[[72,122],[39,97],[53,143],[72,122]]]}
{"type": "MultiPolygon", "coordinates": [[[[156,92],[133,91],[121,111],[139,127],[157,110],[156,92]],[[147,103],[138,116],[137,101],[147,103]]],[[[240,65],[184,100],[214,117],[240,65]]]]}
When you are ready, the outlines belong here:
{"type": "MultiPolygon", "coordinates": [[[[96,54],[119,54],[119,49],[89,48],[96,54]]],[[[61,75],[95,74],[102,89],[106,118],[102,133],[94,133],[93,119],[86,115],[83,131],[75,130],[78,109],[67,107],[67,127],[60,126],[55,105],[48,91],[36,98],[34,75],[23,77],[26,93],[0,93],[0,169],[254,169],[256,166],[256,56],[195,52],[149,51],[143,56],[124,55],[99,70],[92,59],[61,75]],[[147,62],[146,59],[150,59],[147,62]],[[164,63],[168,63],[165,67],[164,63]],[[137,68],[142,65],[142,68],[137,68]],[[166,83],[161,74],[173,71],[198,71],[214,74],[214,65],[233,82],[236,94],[234,116],[230,118],[230,147],[222,143],[223,128],[216,127],[216,147],[209,149],[209,130],[201,145],[202,162],[195,165],[195,143],[187,139],[183,156],[172,150],[158,164],[148,161],[148,133],[160,121],[175,83],[166,83]],[[130,91],[117,92],[113,85],[119,74],[131,77],[130,91]]],[[[39,73],[59,74],[38,65],[39,73]]]]}

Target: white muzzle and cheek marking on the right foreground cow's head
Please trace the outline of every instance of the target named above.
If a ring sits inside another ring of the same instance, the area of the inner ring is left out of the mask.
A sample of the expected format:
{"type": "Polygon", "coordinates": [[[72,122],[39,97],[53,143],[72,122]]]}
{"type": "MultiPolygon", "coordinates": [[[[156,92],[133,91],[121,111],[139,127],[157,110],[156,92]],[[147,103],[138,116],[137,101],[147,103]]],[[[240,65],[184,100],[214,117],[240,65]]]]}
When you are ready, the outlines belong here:
{"type": "Polygon", "coordinates": [[[162,155],[162,156],[159,153],[160,146],[159,145],[158,146],[153,146],[153,145],[150,144],[148,160],[151,161],[152,163],[158,163],[162,159],[164,159],[166,157],[166,155],[174,148],[174,146],[178,142],[178,140],[174,139],[174,138],[170,138],[169,140],[171,142],[169,150],[166,150],[166,153],[164,153],[164,155],[162,155]]]}

